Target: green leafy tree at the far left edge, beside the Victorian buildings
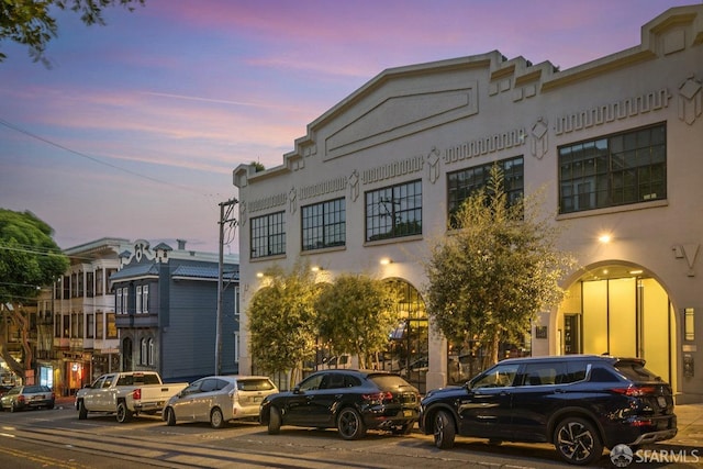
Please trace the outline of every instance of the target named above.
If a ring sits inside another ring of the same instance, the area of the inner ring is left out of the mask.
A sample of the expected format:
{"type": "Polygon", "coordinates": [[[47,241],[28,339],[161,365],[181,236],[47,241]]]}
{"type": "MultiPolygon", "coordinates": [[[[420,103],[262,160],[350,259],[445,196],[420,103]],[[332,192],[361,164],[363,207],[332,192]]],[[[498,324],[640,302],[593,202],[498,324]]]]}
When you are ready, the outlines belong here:
{"type": "Polygon", "coordinates": [[[52,236],[52,227],[33,213],[0,209],[0,357],[21,377],[34,360],[26,306],[69,267],[52,236]],[[21,360],[8,348],[9,325],[20,335],[21,360]]]}

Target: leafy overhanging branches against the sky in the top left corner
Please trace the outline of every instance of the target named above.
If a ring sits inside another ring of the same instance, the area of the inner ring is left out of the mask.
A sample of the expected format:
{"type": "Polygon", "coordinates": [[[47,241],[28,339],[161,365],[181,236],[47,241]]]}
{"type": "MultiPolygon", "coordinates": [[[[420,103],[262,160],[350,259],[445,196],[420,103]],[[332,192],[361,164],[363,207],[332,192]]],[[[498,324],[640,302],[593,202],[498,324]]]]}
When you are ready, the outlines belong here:
{"type": "MultiPolygon", "coordinates": [[[[103,10],[121,5],[129,11],[135,4],[144,5],[145,0],[3,0],[0,1],[0,43],[10,40],[30,48],[34,62],[43,62],[46,46],[52,37],[57,37],[56,10],[71,10],[80,14],[87,25],[104,25],[103,10]]],[[[0,52],[0,62],[7,58],[0,52]]]]}

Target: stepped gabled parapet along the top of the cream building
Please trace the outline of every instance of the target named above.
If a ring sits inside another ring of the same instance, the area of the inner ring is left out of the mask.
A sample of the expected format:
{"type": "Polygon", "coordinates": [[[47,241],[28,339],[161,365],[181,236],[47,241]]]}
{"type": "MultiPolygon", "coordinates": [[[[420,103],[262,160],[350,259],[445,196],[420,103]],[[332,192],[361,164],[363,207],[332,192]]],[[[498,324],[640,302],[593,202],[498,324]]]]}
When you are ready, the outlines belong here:
{"type": "MultiPolygon", "coordinates": [[[[638,46],[566,70],[548,60],[535,65],[522,56],[507,59],[499,51],[389,68],[311,122],[281,166],[257,172],[255,165],[239,165],[234,186],[302,170],[313,156],[316,163],[330,161],[477,115],[479,97],[509,97],[520,105],[570,83],[701,44],[703,4],[693,4],[669,9],[645,24],[638,46]]],[[[691,74],[694,68],[692,64],[691,74]]]]}

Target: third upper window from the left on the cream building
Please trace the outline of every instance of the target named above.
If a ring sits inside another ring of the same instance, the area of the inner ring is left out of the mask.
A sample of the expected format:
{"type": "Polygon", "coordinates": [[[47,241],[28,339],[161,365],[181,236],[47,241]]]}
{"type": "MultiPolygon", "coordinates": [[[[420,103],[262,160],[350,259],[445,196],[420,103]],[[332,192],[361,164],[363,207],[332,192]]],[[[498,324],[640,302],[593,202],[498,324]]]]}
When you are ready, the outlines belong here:
{"type": "Polygon", "coordinates": [[[422,234],[422,181],[366,192],[366,241],[422,234]]]}

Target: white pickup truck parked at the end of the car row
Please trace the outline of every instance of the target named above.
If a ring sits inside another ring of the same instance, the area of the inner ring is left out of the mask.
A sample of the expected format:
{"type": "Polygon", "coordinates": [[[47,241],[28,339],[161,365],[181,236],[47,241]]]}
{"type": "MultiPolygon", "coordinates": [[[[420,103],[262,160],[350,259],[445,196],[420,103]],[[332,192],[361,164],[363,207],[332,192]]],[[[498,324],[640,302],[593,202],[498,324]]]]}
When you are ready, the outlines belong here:
{"type": "Polygon", "coordinates": [[[118,422],[125,423],[141,413],[153,415],[187,386],[164,383],[154,371],[102,375],[76,393],[78,418],[88,418],[89,412],[114,413],[118,422]]]}

